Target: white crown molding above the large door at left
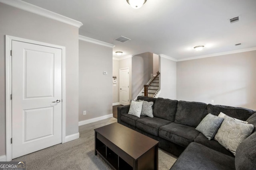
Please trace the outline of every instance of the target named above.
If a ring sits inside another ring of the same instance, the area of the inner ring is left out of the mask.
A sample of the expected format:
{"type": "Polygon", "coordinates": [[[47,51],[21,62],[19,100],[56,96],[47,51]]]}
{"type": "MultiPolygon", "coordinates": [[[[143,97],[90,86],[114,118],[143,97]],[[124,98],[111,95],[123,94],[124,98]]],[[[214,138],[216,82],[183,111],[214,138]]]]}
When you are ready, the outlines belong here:
{"type": "Polygon", "coordinates": [[[62,16],[60,14],[57,14],[55,12],[46,10],[44,8],[29,4],[27,2],[24,2],[22,0],[0,0],[3,4],[7,4],[10,6],[13,6],[15,8],[19,8],[24,11],[28,11],[34,14],[38,14],[40,16],[44,16],[46,18],[51,18],[53,20],[57,20],[63,23],[67,23],[69,25],[73,25],[75,27],[81,27],[83,24],[80,21],[73,20],[71,18],[62,16]]]}

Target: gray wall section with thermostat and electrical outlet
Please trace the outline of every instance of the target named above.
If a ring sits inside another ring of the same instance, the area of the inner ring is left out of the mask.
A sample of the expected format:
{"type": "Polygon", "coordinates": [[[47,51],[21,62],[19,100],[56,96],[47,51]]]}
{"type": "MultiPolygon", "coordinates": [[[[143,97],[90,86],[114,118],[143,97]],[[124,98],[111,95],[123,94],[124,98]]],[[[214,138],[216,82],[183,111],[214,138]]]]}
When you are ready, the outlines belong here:
{"type": "Polygon", "coordinates": [[[112,84],[112,48],[79,40],[79,121],[112,114],[112,84]]]}

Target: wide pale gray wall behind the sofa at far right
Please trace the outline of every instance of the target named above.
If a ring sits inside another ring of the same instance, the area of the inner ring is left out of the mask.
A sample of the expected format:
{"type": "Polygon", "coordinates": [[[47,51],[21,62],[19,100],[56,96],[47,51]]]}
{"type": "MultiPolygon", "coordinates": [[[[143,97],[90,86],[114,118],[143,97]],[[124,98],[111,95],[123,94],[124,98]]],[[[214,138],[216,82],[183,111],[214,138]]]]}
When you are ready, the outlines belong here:
{"type": "Polygon", "coordinates": [[[256,51],[177,63],[177,99],[256,109],[256,51]]]}

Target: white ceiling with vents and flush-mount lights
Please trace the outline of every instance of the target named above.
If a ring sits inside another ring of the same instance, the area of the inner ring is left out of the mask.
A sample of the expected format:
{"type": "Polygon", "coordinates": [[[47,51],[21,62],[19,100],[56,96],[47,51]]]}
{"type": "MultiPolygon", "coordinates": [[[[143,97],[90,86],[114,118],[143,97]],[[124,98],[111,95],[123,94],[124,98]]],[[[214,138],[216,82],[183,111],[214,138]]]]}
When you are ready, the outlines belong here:
{"type": "Polygon", "coordinates": [[[256,47],[256,0],[147,0],[140,9],[126,0],[23,1],[81,21],[79,34],[116,45],[114,57],[123,51],[184,59],[256,47]],[[114,40],[121,35],[131,40],[114,40]]]}

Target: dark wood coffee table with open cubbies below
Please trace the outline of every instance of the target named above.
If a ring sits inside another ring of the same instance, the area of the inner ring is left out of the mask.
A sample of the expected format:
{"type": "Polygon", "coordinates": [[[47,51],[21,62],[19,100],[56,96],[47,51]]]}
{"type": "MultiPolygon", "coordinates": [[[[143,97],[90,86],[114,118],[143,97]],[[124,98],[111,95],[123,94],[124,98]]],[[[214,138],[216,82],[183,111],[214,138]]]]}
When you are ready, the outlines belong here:
{"type": "Polygon", "coordinates": [[[119,123],[95,131],[95,155],[115,170],[158,170],[158,141],[119,123]]]}

